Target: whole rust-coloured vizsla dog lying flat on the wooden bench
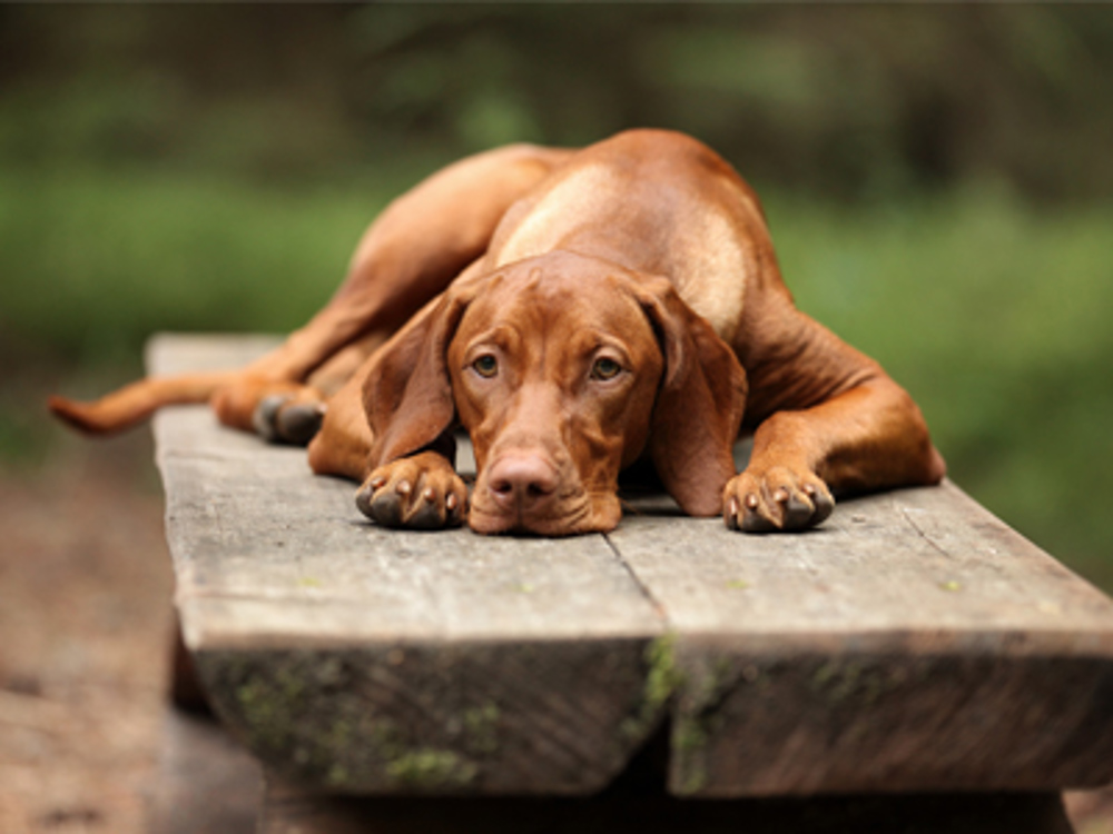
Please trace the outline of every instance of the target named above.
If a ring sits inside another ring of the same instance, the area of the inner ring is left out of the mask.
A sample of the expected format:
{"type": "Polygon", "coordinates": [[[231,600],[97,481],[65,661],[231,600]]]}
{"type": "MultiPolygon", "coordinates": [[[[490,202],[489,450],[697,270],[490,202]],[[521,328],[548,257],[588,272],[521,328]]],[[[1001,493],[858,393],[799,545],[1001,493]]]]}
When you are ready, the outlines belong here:
{"type": "Polygon", "coordinates": [[[909,396],[795,308],[755,193],[658,130],[450,166],[382,214],[335,297],[263,359],[51,408],[106,433],[205,400],[308,441],[314,471],[359,481],[359,508],[397,527],[609,530],[619,473],[643,458],[686,513],[754,532],[944,475],[909,396]]]}

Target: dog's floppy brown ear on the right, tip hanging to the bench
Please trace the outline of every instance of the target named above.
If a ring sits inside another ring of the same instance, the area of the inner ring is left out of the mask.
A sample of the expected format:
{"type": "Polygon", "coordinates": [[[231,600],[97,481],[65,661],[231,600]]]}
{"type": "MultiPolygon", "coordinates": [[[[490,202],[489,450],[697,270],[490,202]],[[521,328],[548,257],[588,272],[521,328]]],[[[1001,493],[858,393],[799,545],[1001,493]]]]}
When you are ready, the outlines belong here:
{"type": "Polygon", "coordinates": [[[736,474],[733,446],[746,409],[746,371],[668,280],[647,280],[637,295],[664,354],[650,457],[684,513],[718,515],[722,489],[736,474]]]}

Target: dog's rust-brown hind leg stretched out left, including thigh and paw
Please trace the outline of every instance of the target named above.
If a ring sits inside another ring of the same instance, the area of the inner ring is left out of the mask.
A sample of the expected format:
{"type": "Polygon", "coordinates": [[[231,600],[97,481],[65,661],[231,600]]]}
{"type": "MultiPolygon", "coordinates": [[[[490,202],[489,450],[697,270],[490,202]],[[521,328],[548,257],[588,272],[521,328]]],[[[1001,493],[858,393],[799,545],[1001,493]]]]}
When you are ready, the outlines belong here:
{"type": "MultiPolygon", "coordinates": [[[[214,397],[221,423],[304,441],[314,429],[306,403],[319,396],[290,385],[343,383],[490,242],[510,206],[571,151],[512,146],[470,157],[392,202],[367,229],[332,300],[276,350],[214,397]],[[284,413],[290,410],[290,425],[284,413]]],[[[323,391],[327,395],[327,391],[323,391]]],[[[319,419],[316,420],[319,423],[319,419]]]]}

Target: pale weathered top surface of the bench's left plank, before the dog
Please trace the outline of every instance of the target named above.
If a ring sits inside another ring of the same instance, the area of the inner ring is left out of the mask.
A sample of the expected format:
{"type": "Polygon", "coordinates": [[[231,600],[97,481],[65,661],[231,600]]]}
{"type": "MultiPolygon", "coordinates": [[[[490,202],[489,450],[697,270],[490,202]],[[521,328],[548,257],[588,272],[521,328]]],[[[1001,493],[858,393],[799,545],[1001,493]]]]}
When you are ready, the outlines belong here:
{"type": "Polygon", "coordinates": [[[575,639],[660,627],[602,537],[387,530],[358,513],[352,484],[309,477],[304,450],[214,431],[204,409],[167,413],[158,436],[194,647],[575,639]]]}

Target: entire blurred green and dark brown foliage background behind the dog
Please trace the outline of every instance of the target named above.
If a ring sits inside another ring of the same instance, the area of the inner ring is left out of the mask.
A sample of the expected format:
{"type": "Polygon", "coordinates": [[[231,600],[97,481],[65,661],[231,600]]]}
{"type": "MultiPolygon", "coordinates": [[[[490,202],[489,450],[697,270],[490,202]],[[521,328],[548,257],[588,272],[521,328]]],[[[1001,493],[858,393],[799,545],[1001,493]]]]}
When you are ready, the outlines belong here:
{"type": "Polygon", "coordinates": [[[0,464],[155,330],[301,324],[437,167],[671,127],[955,480],[1113,588],[1110,101],[1093,6],[2,6],[0,464]]]}

